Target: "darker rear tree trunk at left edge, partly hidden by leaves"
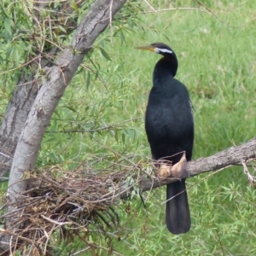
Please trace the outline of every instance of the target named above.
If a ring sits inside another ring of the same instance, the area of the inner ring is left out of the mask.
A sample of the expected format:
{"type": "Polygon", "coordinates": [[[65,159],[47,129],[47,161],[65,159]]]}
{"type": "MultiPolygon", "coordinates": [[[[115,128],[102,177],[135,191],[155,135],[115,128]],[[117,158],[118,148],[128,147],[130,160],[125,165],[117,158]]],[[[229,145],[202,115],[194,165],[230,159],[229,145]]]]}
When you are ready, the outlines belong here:
{"type": "MultiPolygon", "coordinates": [[[[83,3],[76,0],[77,6],[83,3]]],[[[46,6],[49,1],[41,1],[40,3],[34,3],[37,8],[27,7],[30,9],[29,15],[34,15],[38,22],[35,23],[35,30],[39,29],[41,22],[44,23],[44,15],[42,15],[42,9],[49,9],[46,6]],[[41,21],[41,22],[40,22],[41,21]]],[[[52,6],[54,8],[54,6],[52,6]]],[[[68,19],[69,14],[73,11],[70,7],[70,1],[65,3],[60,3],[59,7],[63,13],[65,12],[65,17],[57,17],[55,20],[62,22],[63,26],[66,27],[67,33],[73,32],[73,27],[76,26],[75,19],[68,19]],[[65,25],[64,25],[65,24],[65,25]]],[[[32,42],[33,44],[33,42],[32,42]]],[[[37,45],[38,48],[40,48],[37,45]]],[[[41,46],[44,48],[44,46],[41,46]]],[[[0,127],[0,182],[5,179],[6,172],[10,170],[12,165],[12,160],[15,154],[15,148],[20,137],[20,133],[24,127],[27,114],[29,113],[32,103],[37,96],[38,89],[40,88],[42,81],[40,76],[37,78],[38,69],[44,69],[44,67],[52,66],[52,63],[45,58],[48,55],[50,58],[54,58],[57,55],[59,49],[57,47],[49,46],[44,50],[44,55],[39,53],[36,57],[34,55],[27,55],[26,62],[29,62],[26,67],[26,73],[20,75],[20,79],[16,84],[16,88],[12,99],[9,102],[9,106],[4,115],[3,122],[0,127]]]]}

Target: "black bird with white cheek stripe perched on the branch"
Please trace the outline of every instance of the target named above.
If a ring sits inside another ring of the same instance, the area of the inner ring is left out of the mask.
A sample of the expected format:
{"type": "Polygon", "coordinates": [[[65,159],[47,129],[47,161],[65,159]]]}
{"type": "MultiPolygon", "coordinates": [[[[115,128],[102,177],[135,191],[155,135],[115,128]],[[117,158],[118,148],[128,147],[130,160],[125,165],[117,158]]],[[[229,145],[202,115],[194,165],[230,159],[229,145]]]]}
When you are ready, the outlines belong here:
{"type": "MultiPolygon", "coordinates": [[[[163,55],[154,67],[153,87],[146,110],[145,128],[152,157],[154,160],[165,158],[174,165],[180,160],[180,154],[177,153],[185,151],[186,159],[191,160],[194,141],[193,111],[189,91],[184,84],[174,79],[178,66],[177,56],[169,46],[162,43],[137,49],[148,49],[163,55]]],[[[167,185],[166,199],[168,230],[172,234],[188,232],[191,220],[185,179],[167,185]]]]}

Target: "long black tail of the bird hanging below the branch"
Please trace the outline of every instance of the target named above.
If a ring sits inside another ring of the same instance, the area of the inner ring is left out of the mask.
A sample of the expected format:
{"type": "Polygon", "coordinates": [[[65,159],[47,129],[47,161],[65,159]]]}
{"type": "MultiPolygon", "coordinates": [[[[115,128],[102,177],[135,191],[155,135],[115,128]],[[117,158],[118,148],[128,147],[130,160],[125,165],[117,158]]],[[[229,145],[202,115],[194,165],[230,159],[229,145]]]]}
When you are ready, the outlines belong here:
{"type": "Polygon", "coordinates": [[[189,201],[185,180],[167,185],[166,199],[166,226],[175,235],[187,233],[190,230],[189,201]],[[177,195],[178,193],[180,195],[177,195]],[[172,196],[177,195],[172,198],[172,196]]]}

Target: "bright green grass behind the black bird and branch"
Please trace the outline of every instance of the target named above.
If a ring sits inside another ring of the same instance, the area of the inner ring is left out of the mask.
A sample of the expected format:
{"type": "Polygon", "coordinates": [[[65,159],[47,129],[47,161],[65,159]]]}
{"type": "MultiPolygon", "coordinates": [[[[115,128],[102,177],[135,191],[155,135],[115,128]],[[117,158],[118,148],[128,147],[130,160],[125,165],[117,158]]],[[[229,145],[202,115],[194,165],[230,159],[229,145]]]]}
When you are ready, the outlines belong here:
{"type": "MultiPolygon", "coordinates": [[[[196,8],[193,1],[151,3],[157,9],[196,8]]],[[[188,9],[154,13],[142,3],[148,13],[131,15],[127,23],[104,32],[84,61],[97,75],[81,68],[68,86],[45,134],[38,166],[72,169],[97,157],[102,160],[96,168],[101,168],[104,160],[119,155],[136,155],[134,162],[150,157],[143,120],[160,55],[135,47],[154,42],[175,50],[177,79],[189,88],[195,111],[194,159],[254,137],[256,2],[203,3],[218,18],[188,9]],[[105,126],[108,129],[99,130],[105,126]],[[59,132],[70,130],[87,132],[59,132]]],[[[6,88],[1,91],[5,93],[6,88]]],[[[146,207],[137,197],[120,202],[119,232],[109,231],[111,242],[99,234],[90,236],[91,241],[102,247],[111,244],[123,255],[256,255],[255,190],[242,168],[207,175],[187,181],[189,233],[173,236],[166,230],[166,188],[161,188],[143,194],[146,207]]],[[[79,241],[76,245],[82,247],[79,241]]],[[[96,253],[108,255],[103,249],[96,253]]]]}

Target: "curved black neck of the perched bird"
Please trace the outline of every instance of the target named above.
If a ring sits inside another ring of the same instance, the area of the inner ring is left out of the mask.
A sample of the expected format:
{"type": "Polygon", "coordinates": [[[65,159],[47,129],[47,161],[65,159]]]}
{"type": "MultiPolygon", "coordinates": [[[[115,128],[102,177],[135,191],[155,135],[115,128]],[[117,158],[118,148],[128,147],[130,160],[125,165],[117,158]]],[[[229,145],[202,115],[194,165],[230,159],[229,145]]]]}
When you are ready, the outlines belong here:
{"type": "Polygon", "coordinates": [[[177,57],[164,56],[154,66],[153,82],[154,86],[168,85],[168,80],[172,79],[177,73],[177,57]]]}

